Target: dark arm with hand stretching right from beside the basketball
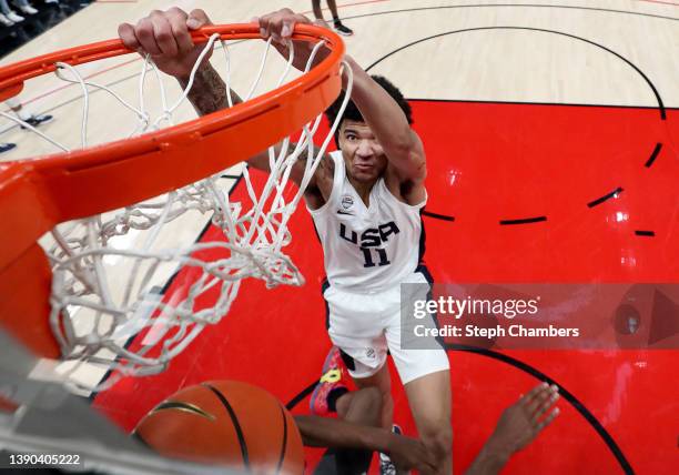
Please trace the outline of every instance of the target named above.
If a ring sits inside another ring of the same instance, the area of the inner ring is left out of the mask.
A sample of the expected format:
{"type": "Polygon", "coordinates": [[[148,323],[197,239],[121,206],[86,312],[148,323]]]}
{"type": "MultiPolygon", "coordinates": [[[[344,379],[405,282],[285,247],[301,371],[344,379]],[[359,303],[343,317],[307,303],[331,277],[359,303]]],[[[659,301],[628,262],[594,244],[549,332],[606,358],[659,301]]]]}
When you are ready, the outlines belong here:
{"type": "Polygon", "coordinates": [[[357,448],[388,454],[401,469],[420,473],[435,471],[424,444],[381,427],[352,424],[342,420],[313,415],[295,416],[304,445],[314,447],[357,448]]]}

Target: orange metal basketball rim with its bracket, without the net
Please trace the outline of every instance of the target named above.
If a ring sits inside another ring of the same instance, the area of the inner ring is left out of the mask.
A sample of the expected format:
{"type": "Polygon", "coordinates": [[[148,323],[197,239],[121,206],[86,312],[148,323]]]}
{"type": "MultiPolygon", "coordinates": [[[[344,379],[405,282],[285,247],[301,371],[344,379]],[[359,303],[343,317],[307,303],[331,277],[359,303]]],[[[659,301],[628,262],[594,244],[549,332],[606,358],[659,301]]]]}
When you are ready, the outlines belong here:
{"type": "MultiPolygon", "coordinates": [[[[257,39],[259,27],[206,27],[204,43],[257,39]]],[[[0,322],[41,356],[58,357],[48,323],[51,271],[37,240],[57,224],[103,213],[185,186],[276,143],[325,110],[342,88],[344,43],[297,24],[294,40],[325,41],[330,54],[307,73],[230,109],[102,145],[0,164],[0,322]],[[224,153],[214,153],[224,151],[224,153]],[[199,160],[186,160],[189,155],[199,160]]],[[[71,65],[133,53],[120,40],[57,51],[0,69],[0,100],[24,81],[71,65]]]]}

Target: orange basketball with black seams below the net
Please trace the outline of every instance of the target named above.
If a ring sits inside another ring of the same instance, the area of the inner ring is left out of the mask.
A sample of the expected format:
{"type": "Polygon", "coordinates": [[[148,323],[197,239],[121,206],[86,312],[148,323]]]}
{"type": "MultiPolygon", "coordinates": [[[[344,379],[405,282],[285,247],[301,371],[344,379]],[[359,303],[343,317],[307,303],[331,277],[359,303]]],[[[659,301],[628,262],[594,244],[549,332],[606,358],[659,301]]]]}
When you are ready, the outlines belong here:
{"type": "Polygon", "coordinates": [[[271,394],[236,381],[183,388],[155,406],[134,433],[160,454],[261,474],[304,472],[302,437],[271,394]]]}

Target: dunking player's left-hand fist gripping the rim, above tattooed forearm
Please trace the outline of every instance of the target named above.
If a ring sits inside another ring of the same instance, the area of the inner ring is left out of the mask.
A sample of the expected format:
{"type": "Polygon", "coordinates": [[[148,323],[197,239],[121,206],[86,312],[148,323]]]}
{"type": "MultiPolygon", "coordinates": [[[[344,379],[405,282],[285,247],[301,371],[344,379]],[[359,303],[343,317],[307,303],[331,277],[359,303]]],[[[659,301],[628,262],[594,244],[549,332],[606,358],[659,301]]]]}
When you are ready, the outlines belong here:
{"type": "MultiPolygon", "coordinates": [[[[186,80],[191,74],[204,44],[195,46],[191,31],[212,24],[203,10],[191,13],[173,7],[168,11],[153,10],[133,27],[122,23],[118,27],[120,39],[140,54],[151,54],[158,68],[166,74],[186,80]]],[[[210,58],[205,55],[204,62],[210,58]]]]}

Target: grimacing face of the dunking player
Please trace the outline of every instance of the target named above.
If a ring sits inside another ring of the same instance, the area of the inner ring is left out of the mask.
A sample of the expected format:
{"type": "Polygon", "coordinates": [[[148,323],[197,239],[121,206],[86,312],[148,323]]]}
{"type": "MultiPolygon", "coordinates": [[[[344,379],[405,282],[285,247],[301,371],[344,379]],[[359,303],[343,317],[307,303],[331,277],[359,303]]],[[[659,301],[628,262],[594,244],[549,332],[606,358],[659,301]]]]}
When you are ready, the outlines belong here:
{"type": "Polygon", "coordinates": [[[342,121],[340,149],[348,175],[358,182],[376,181],[386,169],[382,145],[365,122],[342,121]]]}

